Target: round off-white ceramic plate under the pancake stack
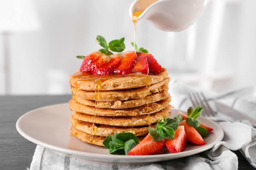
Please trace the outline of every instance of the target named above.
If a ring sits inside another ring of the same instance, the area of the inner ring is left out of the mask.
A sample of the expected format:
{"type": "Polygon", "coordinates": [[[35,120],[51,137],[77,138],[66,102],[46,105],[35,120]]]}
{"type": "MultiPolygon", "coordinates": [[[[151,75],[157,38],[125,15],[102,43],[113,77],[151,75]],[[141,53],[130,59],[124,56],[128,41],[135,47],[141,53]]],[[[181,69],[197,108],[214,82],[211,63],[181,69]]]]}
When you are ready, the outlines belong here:
{"type": "MultiPolygon", "coordinates": [[[[183,152],[179,153],[170,153],[163,150],[157,155],[110,155],[108,149],[104,147],[87,144],[76,137],[70,136],[71,113],[72,111],[67,103],[45,106],[22,115],[16,123],[16,128],[20,135],[27,140],[45,148],[62,152],[82,161],[119,166],[146,165],[194,155],[212,148],[224,136],[223,130],[218,124],[200,117],[200,121],[214,129],[208,137],[204,138],[206,142],[204,146],[188,145],[183,152]]],[[[173,109],[172,117],[176,113],[177,110],[173,109]]]]}

